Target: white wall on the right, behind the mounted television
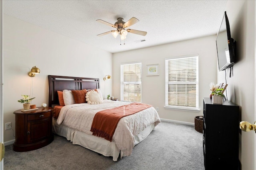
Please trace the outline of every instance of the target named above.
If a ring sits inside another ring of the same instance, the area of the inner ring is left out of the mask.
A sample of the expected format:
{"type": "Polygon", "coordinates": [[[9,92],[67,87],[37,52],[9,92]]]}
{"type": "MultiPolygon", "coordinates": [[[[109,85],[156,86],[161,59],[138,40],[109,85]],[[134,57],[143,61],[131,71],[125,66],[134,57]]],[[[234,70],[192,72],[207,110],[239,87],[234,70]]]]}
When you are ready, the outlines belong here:
{"type": "MultiPolygon", "coordinates": [[[[228,1],[226,12],[231,37],[237,41],[238,62],[234,76],[229,78],[227,69],[228,100],[240,106],[241,121],[254,123],[255,112],[255,1],[228,1]]],[[[218,81],[225,81],[225,72],[218,72],[218,81]]],[[[239,157],[242,170],[253,170],[255,133],[240,133],[239,157]]]]}

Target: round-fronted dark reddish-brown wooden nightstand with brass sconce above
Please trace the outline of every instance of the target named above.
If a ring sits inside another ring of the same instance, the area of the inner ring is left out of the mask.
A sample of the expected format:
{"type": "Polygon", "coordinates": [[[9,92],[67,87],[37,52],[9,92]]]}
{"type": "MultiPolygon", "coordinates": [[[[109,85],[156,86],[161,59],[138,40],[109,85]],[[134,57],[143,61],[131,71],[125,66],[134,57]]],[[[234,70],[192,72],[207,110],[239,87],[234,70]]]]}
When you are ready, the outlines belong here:
{"type": "Polygon", "coordinates": [[[35,150],[53,141],[52,107],[38,107],[38,110],[21,111],[15,114],[15,142],[13,150],[25,152],[35,150]]]}

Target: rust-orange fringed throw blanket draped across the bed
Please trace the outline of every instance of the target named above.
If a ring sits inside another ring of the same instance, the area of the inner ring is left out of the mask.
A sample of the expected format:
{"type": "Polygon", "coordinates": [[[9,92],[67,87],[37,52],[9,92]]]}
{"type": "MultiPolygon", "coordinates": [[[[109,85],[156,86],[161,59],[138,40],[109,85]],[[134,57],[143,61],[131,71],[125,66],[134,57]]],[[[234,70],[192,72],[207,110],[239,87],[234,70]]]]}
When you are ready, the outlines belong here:
{"type": "Polygon", "coordinates": [[[92,121],[92,135],[112,141],[117,124],[122,117],[132,115],[151,107],[148,104],[132,103],[113,109],[99,111],[92,121]]]}

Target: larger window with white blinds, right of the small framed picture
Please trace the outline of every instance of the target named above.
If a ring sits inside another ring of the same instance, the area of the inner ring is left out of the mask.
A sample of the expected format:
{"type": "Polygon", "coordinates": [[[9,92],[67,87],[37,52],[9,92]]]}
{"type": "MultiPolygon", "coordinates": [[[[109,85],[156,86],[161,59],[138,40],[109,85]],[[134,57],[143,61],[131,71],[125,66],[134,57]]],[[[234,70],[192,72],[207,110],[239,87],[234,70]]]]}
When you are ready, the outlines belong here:
{"type": "Polygon", "coordinates": [[[165,59],[165,106],[198,110],[198,55],[165,59]]]}

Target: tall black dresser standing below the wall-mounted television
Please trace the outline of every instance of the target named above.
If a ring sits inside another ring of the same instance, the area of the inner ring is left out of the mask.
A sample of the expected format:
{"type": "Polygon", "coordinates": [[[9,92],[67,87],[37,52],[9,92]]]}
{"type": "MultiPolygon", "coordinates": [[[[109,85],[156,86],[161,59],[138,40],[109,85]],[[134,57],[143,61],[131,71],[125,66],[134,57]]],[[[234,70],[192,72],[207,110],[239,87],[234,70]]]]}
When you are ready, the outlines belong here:
{"type": "Polygon", "coordinates": [[[239,106],[204,98],[203,150],[206,170],[239,168],[239,106]]]}

